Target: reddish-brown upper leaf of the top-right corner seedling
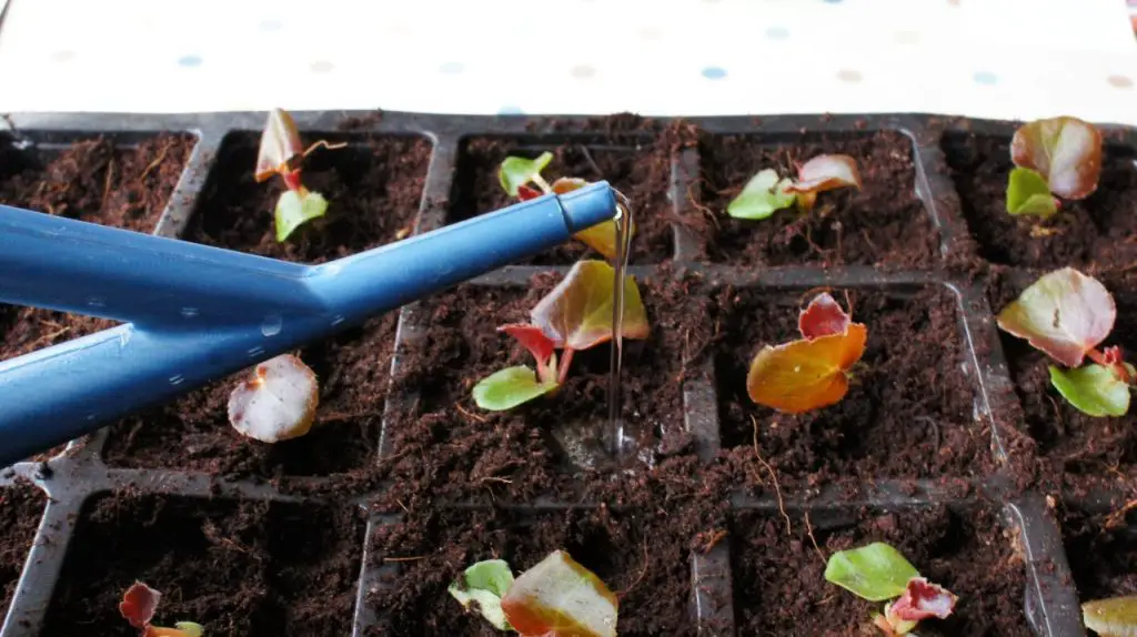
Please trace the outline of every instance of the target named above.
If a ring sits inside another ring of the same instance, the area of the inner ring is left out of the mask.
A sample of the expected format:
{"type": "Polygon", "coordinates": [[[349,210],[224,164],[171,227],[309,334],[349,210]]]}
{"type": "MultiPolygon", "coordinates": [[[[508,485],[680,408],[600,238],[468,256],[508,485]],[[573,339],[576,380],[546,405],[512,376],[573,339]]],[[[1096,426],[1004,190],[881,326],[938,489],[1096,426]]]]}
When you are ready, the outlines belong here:
{"type": "Polygon", "coordinates": [[[1014,132],[1011,159],[1041,174],[1052,193],[1085,199],[1102,176],[1102,132],[1077,117],[1030,121],[1014,132]]]}

